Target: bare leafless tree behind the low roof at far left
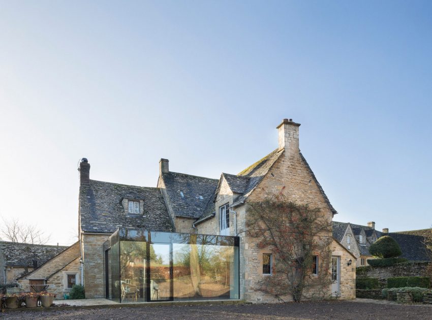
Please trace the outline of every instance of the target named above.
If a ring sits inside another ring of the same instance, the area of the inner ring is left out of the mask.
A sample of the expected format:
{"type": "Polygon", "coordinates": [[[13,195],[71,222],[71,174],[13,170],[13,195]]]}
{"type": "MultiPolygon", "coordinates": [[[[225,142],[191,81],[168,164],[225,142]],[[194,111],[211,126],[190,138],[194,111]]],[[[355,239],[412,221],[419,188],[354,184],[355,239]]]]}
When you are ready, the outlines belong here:
{"type": "Polygon", "coordinates": [[[36,226],[28,225],[15,218],[12,220],[2,218],[2,220],[3,226],[0,227],[0,235],[7,241],[46,244],[50,240],[50,236],[36,226]]]}

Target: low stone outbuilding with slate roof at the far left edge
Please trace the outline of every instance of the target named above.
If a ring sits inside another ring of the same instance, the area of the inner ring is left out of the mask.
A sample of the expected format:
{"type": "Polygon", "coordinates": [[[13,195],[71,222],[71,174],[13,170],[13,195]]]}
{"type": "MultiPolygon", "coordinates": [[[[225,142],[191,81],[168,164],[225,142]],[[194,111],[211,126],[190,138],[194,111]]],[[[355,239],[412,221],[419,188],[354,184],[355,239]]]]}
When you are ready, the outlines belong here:
{"type": "Polygon", "coordinates": [[[17,278],[41,266],[66,248],[0,241],[0,283],[17,282],[17,278]]]}

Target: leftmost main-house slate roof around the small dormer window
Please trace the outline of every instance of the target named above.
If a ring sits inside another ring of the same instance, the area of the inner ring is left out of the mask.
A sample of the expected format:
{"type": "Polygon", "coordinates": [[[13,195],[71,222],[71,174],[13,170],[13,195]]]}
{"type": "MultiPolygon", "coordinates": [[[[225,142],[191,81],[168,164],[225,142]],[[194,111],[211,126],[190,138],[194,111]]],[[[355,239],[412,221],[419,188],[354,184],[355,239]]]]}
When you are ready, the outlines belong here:
{"type": "Polygon", "coordinates": [[[90,180],[80,186],[80,224],[83,232],[113,233],[119,227],[172,231],[160,188],[90,180]],[[143,214],[127,214],[123,199],[143,200],[143,214]]]}

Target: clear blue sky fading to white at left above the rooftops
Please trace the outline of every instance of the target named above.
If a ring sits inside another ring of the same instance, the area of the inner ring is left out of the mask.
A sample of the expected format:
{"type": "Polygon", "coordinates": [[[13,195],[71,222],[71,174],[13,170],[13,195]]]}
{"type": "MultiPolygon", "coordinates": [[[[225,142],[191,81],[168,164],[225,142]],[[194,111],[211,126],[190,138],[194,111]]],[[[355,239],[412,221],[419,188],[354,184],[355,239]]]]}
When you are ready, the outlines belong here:
{"type": "Polygon", "coordinates": [[[75,241],[90,178],[219,178],[300,148],[338,221],[430,227],[430,1],[1,1],[0,215],[75,241]]]}

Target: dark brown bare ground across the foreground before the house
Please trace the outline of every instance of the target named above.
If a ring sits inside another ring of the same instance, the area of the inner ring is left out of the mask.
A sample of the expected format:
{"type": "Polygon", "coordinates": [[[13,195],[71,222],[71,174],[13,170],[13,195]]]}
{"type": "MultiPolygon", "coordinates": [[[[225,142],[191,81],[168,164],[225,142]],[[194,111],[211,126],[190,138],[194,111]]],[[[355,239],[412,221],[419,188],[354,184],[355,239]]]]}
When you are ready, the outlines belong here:
{"type": "Polygon", "coordinates": [[[182,305],[16,311],[6,319],[432,319],[432,306],[359,303],[347,301],[286,304],[182,305]]]}

